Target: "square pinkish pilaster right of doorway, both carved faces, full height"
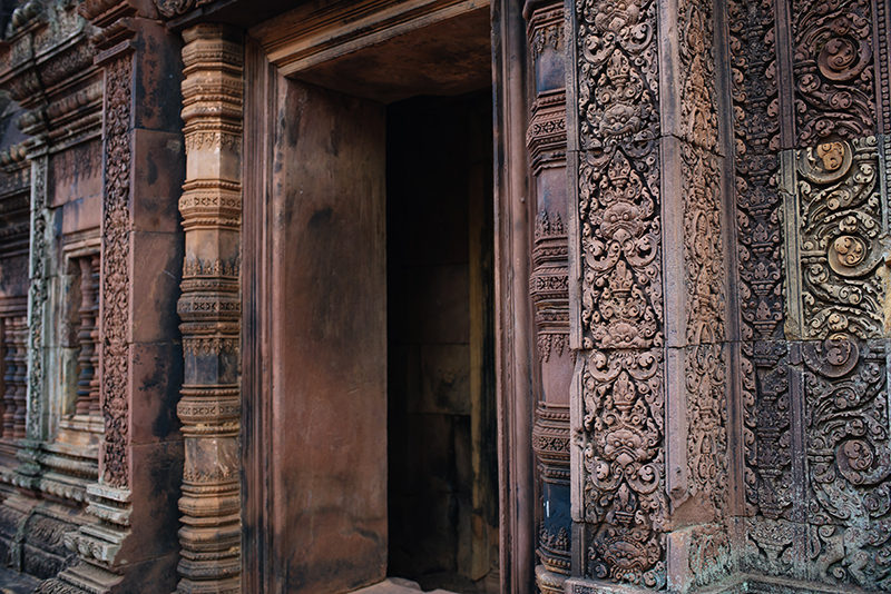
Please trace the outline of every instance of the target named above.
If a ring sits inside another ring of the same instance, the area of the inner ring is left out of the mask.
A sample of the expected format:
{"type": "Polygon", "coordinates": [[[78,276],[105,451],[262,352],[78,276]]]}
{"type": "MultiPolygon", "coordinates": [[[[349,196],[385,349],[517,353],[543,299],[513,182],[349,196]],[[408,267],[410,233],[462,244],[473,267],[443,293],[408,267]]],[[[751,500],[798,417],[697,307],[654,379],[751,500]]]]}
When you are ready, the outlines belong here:
{"type": "Polygon", "coordinates": [[[714,8],[574,8],[569,587],[686,592],[734,568],[714,8]]]}

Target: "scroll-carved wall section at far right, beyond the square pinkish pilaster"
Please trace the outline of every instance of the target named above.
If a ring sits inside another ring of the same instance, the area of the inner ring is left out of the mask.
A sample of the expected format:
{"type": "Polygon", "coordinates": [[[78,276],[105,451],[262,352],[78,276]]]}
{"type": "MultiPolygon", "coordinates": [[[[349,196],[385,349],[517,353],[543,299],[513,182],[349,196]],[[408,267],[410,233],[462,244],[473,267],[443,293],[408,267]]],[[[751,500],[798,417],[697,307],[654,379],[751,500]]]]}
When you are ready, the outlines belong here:
{"type": "Polygon", "coordinates": [[[728,22],[743,568],[887,590],[888,3],[735,0],[728,22]]]}

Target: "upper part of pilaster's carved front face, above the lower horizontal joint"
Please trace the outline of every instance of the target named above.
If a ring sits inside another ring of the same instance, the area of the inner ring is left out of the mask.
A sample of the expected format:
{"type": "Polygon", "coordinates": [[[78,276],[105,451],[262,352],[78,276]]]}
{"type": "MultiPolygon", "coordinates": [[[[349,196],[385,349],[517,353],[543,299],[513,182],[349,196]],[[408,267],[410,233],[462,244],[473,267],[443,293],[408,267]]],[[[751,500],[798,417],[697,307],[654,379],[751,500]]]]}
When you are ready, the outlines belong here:
{"type": "Polygon", "coordinates": [[[579,0],[584,347],[662,344],[655,3],[579,0]]]}

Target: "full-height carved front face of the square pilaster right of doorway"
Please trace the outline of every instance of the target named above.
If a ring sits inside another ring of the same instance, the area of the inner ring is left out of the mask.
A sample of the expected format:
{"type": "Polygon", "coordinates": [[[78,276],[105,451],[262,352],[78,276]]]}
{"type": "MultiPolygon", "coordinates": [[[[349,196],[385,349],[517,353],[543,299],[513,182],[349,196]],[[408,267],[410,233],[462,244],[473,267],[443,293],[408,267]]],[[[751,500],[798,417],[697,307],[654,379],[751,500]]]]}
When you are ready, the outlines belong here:
{"type": "Polygon", "coordinates": [[[665,585],[657,4],[577,0],[586,574],[665,585]]]}

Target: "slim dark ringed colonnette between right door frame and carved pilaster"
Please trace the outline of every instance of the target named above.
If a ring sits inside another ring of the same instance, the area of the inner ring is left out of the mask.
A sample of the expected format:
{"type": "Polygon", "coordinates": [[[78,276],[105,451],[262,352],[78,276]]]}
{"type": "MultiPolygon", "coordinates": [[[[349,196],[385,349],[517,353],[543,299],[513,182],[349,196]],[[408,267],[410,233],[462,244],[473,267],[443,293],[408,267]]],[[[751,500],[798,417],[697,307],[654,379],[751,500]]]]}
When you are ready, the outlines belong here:
{"type": "Polygon", "coordinates": [[[532,449],[538,462],[536,582],[564,591],[570,570],[568,236],[566,191],[566,34],[562,3],[527,2],[529,61],[535,91],[527,131],[535,188],[529,294],[536,326],[538,404],[532,449]]]}

